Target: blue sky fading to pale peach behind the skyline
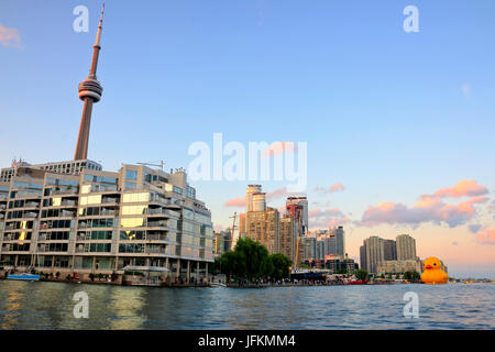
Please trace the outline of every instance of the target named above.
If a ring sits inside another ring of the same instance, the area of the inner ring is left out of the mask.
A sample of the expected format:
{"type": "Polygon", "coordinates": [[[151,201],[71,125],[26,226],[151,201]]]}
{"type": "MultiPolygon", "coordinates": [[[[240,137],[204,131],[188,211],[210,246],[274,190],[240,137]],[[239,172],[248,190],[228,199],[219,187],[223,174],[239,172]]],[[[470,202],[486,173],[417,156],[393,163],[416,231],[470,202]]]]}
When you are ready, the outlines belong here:
{"type": "MultiPolygon", "coordinates": [[[[0,43],[1,166],[14,156],[73,157],[82,108],[77,85],[88,74],[100,4],[0,3],[0,24],[20,38],[0,43]],[[78,4],[89,8],[88,33],[73,30],[78,4]]],[[[222,132],[226,142],[308,142],[310,200],[352,221],[370,206],[411,207],[463,179],[486,187],[492,201],[493,13],[493,1],[106,1],[103,97],[94,109],[89,157],[110,170],[158,160],[186,167],[190,143],[211,144],[222,132]],[[419,33],[403,30],[408,4],[419,9],[419,33]],[[342,193],[314,191],[339,182],[342,193]]],[[[221,226],[242,210],[224,202],[242,197],[245,185],[195,184],[221,226]]],[[[267,191],[284,186],[264,183],[267,191]]],[[[495,228],[485,208],[476,211],[470,223],[495,228]]],[[[459,273],[494,275],[495,245],[477,243],[468,224],[400,230],[422,243],[420,254],[444,257],[459,273]],[[472,256],[444,250],[452,242],[472,256]]],[[[399,231],[346,226],[353,256],[365,237],[399,231]]]]}

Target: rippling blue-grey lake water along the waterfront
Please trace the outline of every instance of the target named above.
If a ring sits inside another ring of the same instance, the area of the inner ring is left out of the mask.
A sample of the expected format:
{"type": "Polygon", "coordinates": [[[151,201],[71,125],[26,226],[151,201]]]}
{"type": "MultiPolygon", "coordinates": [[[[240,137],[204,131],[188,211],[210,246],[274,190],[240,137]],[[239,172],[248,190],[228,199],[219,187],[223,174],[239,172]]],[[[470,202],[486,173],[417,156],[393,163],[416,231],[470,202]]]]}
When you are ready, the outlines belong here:
{"type": "Polygon", "coordinates": [[[495,285],[163,288],[0,280],[0,329],[495,329],[495,285]],[[89,318],[76,319],[86,292],[89,318]],[[404,294],[419,318],[404,317],[404,294]]]}

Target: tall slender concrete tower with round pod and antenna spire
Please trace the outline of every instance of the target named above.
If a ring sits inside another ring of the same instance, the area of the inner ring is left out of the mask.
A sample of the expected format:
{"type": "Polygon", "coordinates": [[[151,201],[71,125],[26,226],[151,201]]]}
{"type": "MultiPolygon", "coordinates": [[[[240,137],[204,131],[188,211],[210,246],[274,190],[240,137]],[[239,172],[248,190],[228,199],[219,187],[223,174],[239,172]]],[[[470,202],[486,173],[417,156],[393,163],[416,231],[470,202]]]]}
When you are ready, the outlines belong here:
{"type": "Polygon", "coordinates": [[[91,124],[91,111],[92,105],[100,101],[101,94],[103,92],[103,87],[97,80],[96,72],[98,66],[98,55],[100,53],[100,38],[101,29],[103,24],[103,10],[105,2],[101,8],[100,23],[98,25],[97,40],[92,46],[92,62],[91,69],[89,70],[89,76],[79,84],[79,99],[85,102],[82,108],[82,117],[80,119],[79,135],[77,138],[76,154],[74,160],[80,161],[88,158],[88,142],[89,142],[89,128],[91,124]]]}

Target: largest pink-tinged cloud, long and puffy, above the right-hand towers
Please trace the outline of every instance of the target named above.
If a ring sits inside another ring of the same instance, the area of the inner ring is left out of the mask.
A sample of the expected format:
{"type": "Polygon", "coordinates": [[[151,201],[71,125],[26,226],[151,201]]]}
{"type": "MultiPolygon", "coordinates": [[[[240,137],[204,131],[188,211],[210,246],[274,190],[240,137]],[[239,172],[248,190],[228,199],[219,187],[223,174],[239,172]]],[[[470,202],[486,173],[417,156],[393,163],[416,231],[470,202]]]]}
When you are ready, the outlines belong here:
{"type": "Polygon", "coordinates": [[[424,222],[446,222],[454,228],[464,224],[476,215],[475,205],[486,202],[486,197],[475,197],[457,206],[447,205],[436,197],[422,197],[414,207],[403,204],[381,202],[364,212],[361,224],[373,227],[380,223],[407,223],[418,226],[424,222]]]}

